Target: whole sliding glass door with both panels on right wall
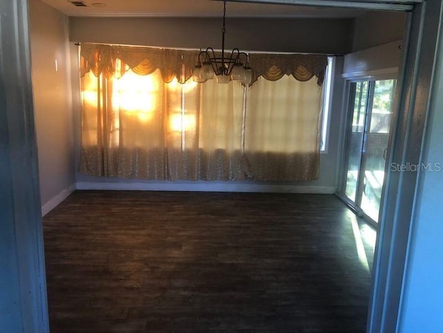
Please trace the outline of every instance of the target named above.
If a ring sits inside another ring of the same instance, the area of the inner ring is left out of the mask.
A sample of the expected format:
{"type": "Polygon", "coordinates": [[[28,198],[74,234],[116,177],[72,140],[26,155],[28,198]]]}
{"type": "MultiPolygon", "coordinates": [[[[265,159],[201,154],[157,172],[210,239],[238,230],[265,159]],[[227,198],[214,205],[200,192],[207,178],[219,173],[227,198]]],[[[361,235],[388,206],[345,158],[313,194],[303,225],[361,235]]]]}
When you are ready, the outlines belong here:
{"type": "Polygon", "coordinates": [[[350,83],[341,195],[378,221],[395,80],[350,83]]]}

